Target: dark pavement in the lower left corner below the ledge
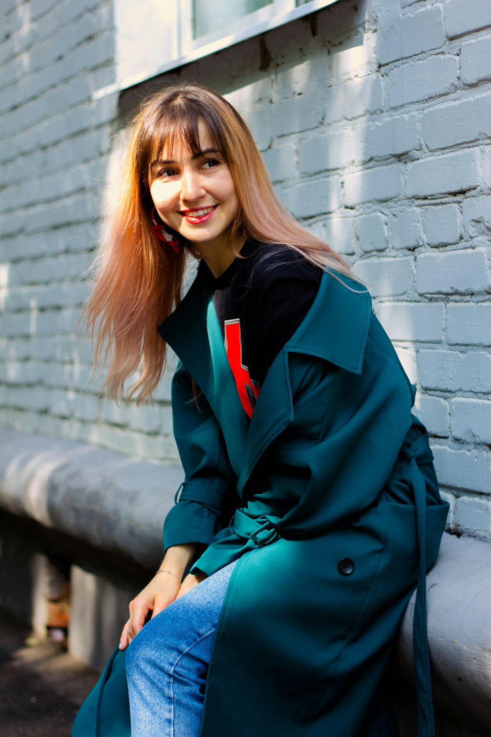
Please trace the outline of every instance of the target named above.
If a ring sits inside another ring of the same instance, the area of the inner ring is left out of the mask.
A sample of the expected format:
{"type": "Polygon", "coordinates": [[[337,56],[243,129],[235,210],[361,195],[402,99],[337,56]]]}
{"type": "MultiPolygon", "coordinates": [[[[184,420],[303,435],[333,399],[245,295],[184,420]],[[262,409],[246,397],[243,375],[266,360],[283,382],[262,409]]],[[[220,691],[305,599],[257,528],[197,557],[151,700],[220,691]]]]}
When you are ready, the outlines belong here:
{"type": "Polygon", "coordinates": [[[0,610],[0,737],[70,737],[99,674],[0,610]]]}

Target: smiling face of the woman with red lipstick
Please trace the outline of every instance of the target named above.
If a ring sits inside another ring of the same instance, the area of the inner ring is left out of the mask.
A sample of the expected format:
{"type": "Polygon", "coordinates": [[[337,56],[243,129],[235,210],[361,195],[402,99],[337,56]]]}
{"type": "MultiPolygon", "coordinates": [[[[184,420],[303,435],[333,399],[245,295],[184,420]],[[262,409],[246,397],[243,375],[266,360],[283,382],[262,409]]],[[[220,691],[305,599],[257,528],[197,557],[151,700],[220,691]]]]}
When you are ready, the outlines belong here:
{"type": "Polygon", "coordinates": [[[239,198],[228,164],[199,123],[200,152],[174,142],[150,166],[150,194],[164,223],[196,245],[203,257],[227,250],[239,198]]]}

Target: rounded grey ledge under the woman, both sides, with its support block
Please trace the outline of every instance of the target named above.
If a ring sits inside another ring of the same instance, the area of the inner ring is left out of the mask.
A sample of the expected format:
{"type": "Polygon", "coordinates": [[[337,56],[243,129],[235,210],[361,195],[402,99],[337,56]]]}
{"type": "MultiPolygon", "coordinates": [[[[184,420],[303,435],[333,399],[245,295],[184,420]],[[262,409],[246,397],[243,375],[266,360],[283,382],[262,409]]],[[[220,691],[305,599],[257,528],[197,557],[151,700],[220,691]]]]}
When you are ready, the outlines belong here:
{"type": "MultiPolygon", "coordinates": [[[[162,522],[182,479],[177,465],[0,428],[0,508],[76,539],[100,551],[102,558],[107,555],[108,561],[117,556],[155,569],[162,556],[162,522]]],[[[103,562],[95,572],[72,566],[71,652],[99,667],[117,641],[132,589],[118,588],[105,576],[103,562]],[[112,624],[107,628],[108,620],[112,624]],[[102,645],[94,640],[89,647],[94,622],[106,627],[106,634],[102,645]]],[[[427,590],[434,697],[441,705],[439,734],[490,734],[491,545],[445,534],[427,590]],[[456,718],[445,717],[449,710],[456,718]]],[[[414,708],[406,698],[412,680],[413,608],[414,596],[395,653],[403,737],[414,734],[414,708]]]]}

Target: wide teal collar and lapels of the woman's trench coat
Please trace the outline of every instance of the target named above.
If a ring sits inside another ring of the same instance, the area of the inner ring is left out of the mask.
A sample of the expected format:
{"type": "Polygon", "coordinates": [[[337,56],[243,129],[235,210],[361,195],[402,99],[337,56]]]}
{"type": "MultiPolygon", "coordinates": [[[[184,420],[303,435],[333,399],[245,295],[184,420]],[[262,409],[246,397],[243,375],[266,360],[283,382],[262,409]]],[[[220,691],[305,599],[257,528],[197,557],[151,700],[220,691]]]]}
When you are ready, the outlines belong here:
{"type": "Polygon", "coordinates": [[[353,279],[339,278],[341,282],[329,273],[322,275],[310,310],[266,374],[250,421],[228,365],[204,265],[199,265],[183,301],[158,327],[205,394],[222,427],[230,463],[239,477],[239,493],[266,448],[292,422],[289,353],[317,356],[361,374],[370,294],[353,279]]]}

